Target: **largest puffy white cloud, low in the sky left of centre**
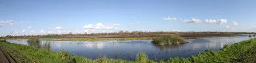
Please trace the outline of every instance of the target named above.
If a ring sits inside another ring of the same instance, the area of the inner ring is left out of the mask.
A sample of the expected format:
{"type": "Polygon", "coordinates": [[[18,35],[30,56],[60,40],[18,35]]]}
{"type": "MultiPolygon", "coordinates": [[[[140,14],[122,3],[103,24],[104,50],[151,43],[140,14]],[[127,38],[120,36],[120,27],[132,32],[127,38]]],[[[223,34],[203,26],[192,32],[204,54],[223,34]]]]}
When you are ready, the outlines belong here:
{"type": "Polygon", "coordinates": [[[84,29],[119,29],[117,26],[120,26],[119,24],[108,24],[108,26],[104,26],[102,23],[97,23],[96,25],[89,24],[85,25],[84,29]]]}

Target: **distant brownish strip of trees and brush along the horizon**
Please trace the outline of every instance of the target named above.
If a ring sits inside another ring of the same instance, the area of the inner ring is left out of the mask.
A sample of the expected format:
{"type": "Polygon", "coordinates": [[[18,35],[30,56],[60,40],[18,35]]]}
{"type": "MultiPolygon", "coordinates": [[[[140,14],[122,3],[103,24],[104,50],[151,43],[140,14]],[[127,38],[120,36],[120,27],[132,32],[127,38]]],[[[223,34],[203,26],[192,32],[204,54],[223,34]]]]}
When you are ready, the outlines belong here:
{"type": "Polygon", "coordinates": [[[186,31],[186,32],[175,32],[175,31],[154,31],[154,32],[147,32],[147,31],[118,31],[118,32],[111,32],[111,33],[91,33],[87,34],[43,34],[43,35],[20,35],[20,36],[11,36],[7,35],[5,37],[0,38],[31,38],[31,37],[99,37],[99,36],[126,36],[126,37],[144,37],[144,36],[155,36],[157,34],[256,34],[255,32],[230,32],[230,31],[186,31]]]}

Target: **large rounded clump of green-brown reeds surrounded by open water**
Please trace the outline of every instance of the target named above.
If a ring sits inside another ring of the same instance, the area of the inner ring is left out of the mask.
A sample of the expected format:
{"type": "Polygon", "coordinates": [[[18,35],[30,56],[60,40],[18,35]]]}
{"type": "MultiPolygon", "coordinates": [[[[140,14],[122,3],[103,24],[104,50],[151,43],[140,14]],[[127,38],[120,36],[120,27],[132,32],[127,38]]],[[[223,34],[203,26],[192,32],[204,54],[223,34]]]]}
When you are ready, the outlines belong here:
{"type": "Polygon", "coordinates": [[[165,44],[180,44],[180,43],[188,43],[183,38],[180,37],[179,34],[171,34],[171,35],[160,35],[153,38],[153,41],[156,45],[165,45],[165,44]]]}

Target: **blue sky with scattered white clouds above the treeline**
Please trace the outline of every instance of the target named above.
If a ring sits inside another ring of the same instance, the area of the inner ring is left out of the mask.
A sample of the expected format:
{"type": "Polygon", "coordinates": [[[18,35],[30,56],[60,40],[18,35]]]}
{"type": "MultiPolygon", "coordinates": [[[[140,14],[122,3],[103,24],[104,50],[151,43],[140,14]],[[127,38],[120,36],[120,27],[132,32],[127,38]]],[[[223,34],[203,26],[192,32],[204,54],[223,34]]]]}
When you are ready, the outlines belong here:
{"type": "Polygon", "coordinates": [[[256,31],[256,0],[0,0],[0,36],[256,31]]]}

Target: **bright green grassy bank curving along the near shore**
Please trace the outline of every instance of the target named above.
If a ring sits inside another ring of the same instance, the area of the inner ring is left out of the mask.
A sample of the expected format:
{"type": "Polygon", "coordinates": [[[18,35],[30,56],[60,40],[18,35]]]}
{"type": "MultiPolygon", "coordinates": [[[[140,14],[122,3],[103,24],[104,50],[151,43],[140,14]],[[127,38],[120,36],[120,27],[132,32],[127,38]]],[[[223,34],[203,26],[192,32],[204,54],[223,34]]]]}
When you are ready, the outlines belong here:
{"type": "MultiPolygon", "coordinates": [[[[148,60],[145,53],[137,54],[136,61],[114,60],[101,55],[96,59],[68,55],[68,52],[52,52],[49,49],[40,49],[14,43],[3,42],[0,47],[17,51],[27,57],[29,62],[35,63],[158,63],[148,60]]],[[[15,55],[15,54],[14,54],[15,55]]],[[[25,61],[27,62],[27,60],[25,61]]],[[[256,39],[246,40],[233,45],[225,45],[218,51],[206,50],[189,58],[170,58],[168,61],[160,60],[159,63],[255,63],[256,62],[256,39]]]]}

